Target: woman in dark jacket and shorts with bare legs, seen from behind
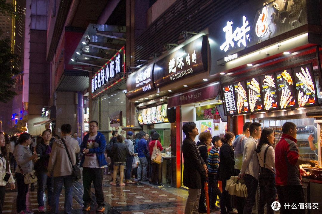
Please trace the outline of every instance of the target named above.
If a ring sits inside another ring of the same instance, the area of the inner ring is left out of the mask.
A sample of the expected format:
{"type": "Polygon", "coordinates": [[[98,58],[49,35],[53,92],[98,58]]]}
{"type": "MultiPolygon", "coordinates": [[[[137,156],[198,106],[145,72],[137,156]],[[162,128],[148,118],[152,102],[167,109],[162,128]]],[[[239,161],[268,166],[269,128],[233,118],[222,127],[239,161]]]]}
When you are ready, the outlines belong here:
{"type": "Polygon", "coordinates": [[[113,144],[112,147],[112,154],[113,154],[113,160],[114,160],[114,168],[113,168],[113,181],[110,182],[111,185],[116,185],[116,175],[118,173],[118,167],[120,172],[120,186],[125,186],[125,183],[123,183],[123,177],[124,177],[124,167],[126,165],[127,161],[127,155],[128,152],[128,146],[123,143],[123,136],[118,135],[116,137],[117,143],[113,144]]]}

